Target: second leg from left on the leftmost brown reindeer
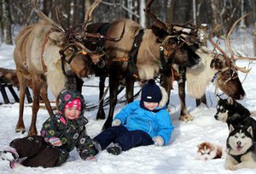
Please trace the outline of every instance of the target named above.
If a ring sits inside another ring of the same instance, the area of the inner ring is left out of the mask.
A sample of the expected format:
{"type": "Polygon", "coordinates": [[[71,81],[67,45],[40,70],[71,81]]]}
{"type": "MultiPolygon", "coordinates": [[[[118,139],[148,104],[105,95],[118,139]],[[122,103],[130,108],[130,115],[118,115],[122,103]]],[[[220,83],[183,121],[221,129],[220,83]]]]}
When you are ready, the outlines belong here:
{"type": "Polygon", "coordinates": [[[40,88],[41,88],[40,85],[42,84],[42,82],[38,82],[38,81],[42,81],[38,78],[40,77],[32,76],[32,91],[33,91],[32,121],[28,131],[28,136],[38,135],[36,122],[37,122],[37,115],[38,115],[38,109],[39,109],[39,95],[40,95],[40,88]]]}

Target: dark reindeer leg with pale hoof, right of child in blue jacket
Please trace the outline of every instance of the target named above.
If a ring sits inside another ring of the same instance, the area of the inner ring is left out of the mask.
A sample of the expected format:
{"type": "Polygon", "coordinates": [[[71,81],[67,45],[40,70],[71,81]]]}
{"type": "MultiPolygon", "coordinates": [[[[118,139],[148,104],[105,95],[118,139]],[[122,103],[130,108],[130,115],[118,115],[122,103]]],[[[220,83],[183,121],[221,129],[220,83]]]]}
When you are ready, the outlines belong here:
{"type": "Polygon", "coordinates": [[[180,108],[180,121],[189,122],[193,120],[193,116],[189,114],[189,111],[186,107],[186,93],[185,93],[185,81],[178,82],[178,97],[180,100],[181,108],[180,108]]]}

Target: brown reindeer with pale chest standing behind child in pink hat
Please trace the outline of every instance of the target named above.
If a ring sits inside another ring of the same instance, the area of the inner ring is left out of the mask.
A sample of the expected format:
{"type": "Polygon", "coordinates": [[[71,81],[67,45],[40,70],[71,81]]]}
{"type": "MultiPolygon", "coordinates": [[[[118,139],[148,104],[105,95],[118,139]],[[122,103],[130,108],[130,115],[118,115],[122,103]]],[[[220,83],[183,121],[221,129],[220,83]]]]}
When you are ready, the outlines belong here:
{"type": "Polygon", "coordinates": [[[86,37],[95,35],[87,34],[84,30],[89,22],[90,14],[100,2],[96,0],[86,12],[84,23],[79,25],[83,26],[83,31],[76,31],[75,27],[65,29],[50,20],[37,8],[36,4],[33,4],[35,12],[43,20],[26,26],[15,38],[15,65],[20,84],[20,112],[16,132],[25,132],[23,108],[26,81],[32,81],[33,92],[32,122],[28,135],[36,135],[39,94],[44,100],[49,115],[53,115],[47,95],[48,87],[56,97],[65,87],[67,72],[71,71],[79,77],[92,73],[87,66],[88,57],[83,52],[90,56],[94,53],[85,48],[83,42],[86,37]]]}

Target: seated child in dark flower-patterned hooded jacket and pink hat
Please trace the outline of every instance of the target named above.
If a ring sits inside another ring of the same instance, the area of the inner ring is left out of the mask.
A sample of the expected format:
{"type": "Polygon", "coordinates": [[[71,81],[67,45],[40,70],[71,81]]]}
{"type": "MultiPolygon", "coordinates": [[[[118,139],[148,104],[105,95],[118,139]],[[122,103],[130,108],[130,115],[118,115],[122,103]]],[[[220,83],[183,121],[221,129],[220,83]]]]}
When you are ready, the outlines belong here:
{"type": "Polygon", "coordinates": [[[83,116],[83,96],[77,91],[64,90],[58,98],[58,114],[44,122],[41,136],[17,138],[9,143],[7,149],[0,151],[0,157],[9,160],[11,167],[17,163],[32,167],[61,166],[75,147],[83,160],[96,155],[96,149],[85,128],[88,121],[83,116]]]}

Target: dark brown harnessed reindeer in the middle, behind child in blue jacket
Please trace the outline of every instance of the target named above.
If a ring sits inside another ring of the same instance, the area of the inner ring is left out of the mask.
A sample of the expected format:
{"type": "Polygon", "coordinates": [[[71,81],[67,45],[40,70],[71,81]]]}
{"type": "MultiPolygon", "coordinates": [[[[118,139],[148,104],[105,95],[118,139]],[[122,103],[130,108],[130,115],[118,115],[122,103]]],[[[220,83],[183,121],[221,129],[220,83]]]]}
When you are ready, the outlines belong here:
{"type": "MultiPolygon", "coordinates": [[[[171,75],[172,72],[166,68],[168,65],[194,67],[201,60],[195,53],[195,50],[201,45],[197,37],[198,26],[191,27],[189,23],[184,25],[166,24],[150,12],[152,3],[153,1],[148,1],[145,10],[155,21],[150,29],[144,29],[137,22],[128,19],[118,19],[105,25],[92,24],[87,28],[88,32],[103,30],[106,31],[106,36],[116,37],[120,34],[120,28],[125,22],[123,38],[119,42],[105,42],[104,61],[109,75],[110,108],[103,129],[111,126],[113,121],[120,81],[125,80],[126,98],[130,103],[133,100],[135,79],[145,81],[154,78],[160,72],[171,75]],[[108,29],[106,29],[106,25],[108,29]]],[[[106,76],[101,78],[100,87],[104,84],[104,77],[106,76]]],[[[102,98],[101,95],[100,98],[102,98]]],[[[101,103],[97,119],[105,119],[102,107],[101,103]]]]}

